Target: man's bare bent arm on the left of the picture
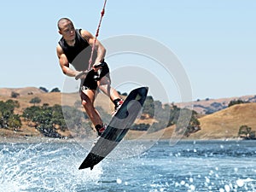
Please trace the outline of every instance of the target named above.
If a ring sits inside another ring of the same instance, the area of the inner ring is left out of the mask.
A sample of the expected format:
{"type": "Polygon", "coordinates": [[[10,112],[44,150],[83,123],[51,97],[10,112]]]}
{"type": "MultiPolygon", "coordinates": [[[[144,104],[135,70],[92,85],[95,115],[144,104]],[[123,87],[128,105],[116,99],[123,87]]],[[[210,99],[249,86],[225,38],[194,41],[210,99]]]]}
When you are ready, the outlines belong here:
{"type": "Polygon", "coordinates": [[[64,52],[61,49],[61,46],[59,44],[57,46],[57,55],[58,55],[58,58],[59,58],[59,62],[60,62],[62,72],[64,74],[66,74],[67,76],[69,76],[69,77],[75,77],[79,72],[69,68],[69,62],[67,60],[67,56],[64,54],[64,52]]]}

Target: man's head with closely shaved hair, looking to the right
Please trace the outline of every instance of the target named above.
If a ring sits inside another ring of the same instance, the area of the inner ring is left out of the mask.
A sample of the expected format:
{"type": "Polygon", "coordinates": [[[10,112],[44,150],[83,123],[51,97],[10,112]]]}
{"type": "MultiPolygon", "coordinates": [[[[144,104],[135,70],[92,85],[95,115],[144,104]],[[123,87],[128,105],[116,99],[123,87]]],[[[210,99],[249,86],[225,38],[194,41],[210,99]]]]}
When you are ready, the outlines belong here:
{"type": "Polygon", "coordinates": [[[63,38],[67,41],[73,41],[75,39],[75,28],[73,23],[70,20],[63,20],[59,24],[60,31],[59,33],[63,36],[63,38]]]}

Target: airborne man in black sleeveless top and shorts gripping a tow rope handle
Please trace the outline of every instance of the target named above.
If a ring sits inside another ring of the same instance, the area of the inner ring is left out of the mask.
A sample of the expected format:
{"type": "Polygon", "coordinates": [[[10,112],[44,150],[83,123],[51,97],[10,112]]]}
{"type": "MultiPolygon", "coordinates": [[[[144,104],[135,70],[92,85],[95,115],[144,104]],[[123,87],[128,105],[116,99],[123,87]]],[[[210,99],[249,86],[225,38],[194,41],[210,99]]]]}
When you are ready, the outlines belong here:
{"type": "Polygon", "coordinates": [[[75,29],[72,20],[68,18],[58,20],[57,26],[62,36],[56,48],[62,72],[69,77],[81,80],[79,92],[82,105],[98,136],[101,136],[105,126],[94,107],[98,90],[102,90],[111,99],[115,111],[123,103],[118,92],[111,86],[108,64],[104,61],[106,49],[90,32],[75,29]],[[88,61],[91,58],[91,48],[96,52],[92,55],[94,64],[90,68],[88,61]],[[70,68],[70,64],[74,69],[70,68]]]}

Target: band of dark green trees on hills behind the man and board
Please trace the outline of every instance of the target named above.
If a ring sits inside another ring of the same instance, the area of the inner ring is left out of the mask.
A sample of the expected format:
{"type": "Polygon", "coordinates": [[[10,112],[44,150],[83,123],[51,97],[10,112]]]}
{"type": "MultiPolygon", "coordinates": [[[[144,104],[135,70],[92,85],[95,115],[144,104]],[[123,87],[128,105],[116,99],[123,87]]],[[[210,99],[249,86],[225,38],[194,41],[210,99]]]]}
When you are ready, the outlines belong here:
{"type": "MultiPolygon", "coordinates": [[[[25,108],[21,113],[15,113],[15,108],[20,108],[17,101],[8,100],[0,102],[0,128],[11,129],[18,131],[22,122],[30,125],[40,131],[45,137],[62,137],[59,131],[67,131],[67,125],[72,125],[74,129],[84,129],[84,123],[90,123],[86,113],[78,108],[78,103],[74,103],[74,107],[54,105],[44,103],[39,106],[36,105],[41,102],[41,99],[36,96],[32,98],[30,103],[34,104],[31,107],[25,108]],[[22,121],[21,121],[22,119],[22,121]],[[59,130],[59,131],[58,131],[59,130]]],[[[79,102],[80,103],[80,102],[79,102]]],[[[102,108],[97,108],[102,115],[104,122],[111,119],[111,115],[106,113],[102,108]]],[[[197,119],[197,113],[186,108],[177,108],[175,105],[163,105],[160,101],[154,101],[152,96],[147,96],[143,106],[141,118],[154,118],[152,125],[138,124],[132,125],[132,130],[137,131],[160,131],[170,125],[179,126],[179,130],[183,134],[189,136],[190,133],[200,128],[200,122],[197,119]],[[189,113],[189,123],[183,124],[181,114],[189,113]]],[[[177,129],[177,131],[179,131],[177,129]]],[[[89,132],[90,130],[84,130],[89,132]]]]}

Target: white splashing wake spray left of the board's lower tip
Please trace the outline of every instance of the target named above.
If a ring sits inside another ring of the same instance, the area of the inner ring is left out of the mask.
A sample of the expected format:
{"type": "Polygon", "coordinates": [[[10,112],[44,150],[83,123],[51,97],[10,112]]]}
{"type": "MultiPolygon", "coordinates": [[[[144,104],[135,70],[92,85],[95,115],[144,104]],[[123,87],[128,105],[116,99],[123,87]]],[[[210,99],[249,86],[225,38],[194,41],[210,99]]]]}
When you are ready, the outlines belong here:
{"type": "MultiPolygon", "coordinates": [[[[63,143],[1,144],[2,191],[77,191],[97,184],[102,166],[79,172],[84,149],[63,143]]],[[[86,189],[84,189],[86,190],[86,189]]]]}

